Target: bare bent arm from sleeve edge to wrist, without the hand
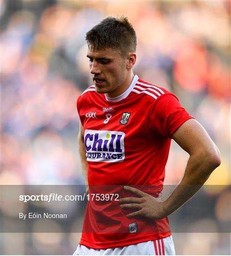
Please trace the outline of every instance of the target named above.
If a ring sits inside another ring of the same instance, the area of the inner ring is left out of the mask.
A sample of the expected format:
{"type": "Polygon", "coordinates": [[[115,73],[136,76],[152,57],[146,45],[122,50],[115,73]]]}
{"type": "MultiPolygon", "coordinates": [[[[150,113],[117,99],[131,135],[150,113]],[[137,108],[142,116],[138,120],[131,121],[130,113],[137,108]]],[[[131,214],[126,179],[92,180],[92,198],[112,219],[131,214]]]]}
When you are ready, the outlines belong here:
{"type": "Polygon", "coordinates": [[[181,182],[164,202],[164,211],[167,215],[188,201],[221,164],[218,148],[195,119],[186,121],[172,138],[190,156],[181,182]]]}

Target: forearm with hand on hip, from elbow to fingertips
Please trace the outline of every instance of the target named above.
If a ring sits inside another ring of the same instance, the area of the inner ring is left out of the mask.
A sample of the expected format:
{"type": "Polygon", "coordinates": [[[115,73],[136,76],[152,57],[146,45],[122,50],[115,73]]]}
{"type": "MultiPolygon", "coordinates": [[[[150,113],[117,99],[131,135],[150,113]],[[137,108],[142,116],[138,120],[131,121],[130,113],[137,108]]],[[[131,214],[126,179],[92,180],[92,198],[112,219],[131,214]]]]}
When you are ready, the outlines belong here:
{"type": "Polygon", "coordinates": [[[127,191],[135,193],[139,197],[121,198],[119,200],[120,207],[135,210],[126,215],[128,218],[143,216],[149,219],[163,219],[188,201],[203,186],[219,164],[219,157],[213,159],[210,153],[191,155],[180,184],[167,200],[158,201],[145,192],[126,186],[127,191]]]}

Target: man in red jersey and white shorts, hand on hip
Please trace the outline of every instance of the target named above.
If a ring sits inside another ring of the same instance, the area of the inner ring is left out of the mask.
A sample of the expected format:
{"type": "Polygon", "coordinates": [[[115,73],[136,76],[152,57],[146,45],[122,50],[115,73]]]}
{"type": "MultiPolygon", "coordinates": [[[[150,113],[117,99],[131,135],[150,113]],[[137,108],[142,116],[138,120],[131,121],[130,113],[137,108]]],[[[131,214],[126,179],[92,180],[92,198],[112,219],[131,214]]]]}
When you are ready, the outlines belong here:
{"type": "Polygon", "coordinates": [[[167,216],[220,165],[219,150],[175,95],[134,75],[137,37],[127,18],[103,19],[86,41],[94,85],[77,110],[89,201],[74,254],[175,254],[167,216]],[[162,201],[171,139],[190,157],[180,184],[162,201]]]}

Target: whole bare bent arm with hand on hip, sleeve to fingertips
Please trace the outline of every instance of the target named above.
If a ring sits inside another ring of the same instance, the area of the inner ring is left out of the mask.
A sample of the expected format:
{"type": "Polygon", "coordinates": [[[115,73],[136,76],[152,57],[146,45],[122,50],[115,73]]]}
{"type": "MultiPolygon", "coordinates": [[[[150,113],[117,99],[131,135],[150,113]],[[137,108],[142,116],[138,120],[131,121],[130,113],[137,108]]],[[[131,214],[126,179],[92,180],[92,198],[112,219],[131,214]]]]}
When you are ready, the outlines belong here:
{"type": "Polygon", "coordinates": [[[219,150],[195,119],[189,119],[182,124],[172,138],[190,155],[181,182],[164,202],[156,201],[147,193],[128,187],[128,191],[134,192],[140,198],[121,199],[122,208],[138,210],[127,217],[162,219],[168,216],[188,201],[220,165],[219,150]]]}

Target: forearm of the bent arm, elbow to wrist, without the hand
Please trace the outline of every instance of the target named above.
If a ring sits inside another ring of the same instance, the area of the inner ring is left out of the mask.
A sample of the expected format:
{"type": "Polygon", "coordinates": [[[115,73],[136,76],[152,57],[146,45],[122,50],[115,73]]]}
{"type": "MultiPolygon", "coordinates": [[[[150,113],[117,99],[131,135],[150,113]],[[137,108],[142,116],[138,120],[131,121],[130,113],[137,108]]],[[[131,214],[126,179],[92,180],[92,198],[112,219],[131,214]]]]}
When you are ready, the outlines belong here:
{"type": "Polygon", "coordinates": [[[218,165],[211,157],[191,155],[181,182],[163,202],[164,215],[170,215],[196,194],[218,165]]]}

